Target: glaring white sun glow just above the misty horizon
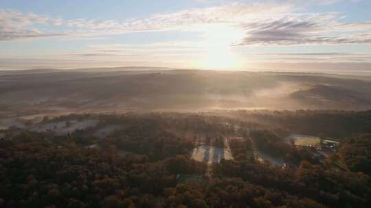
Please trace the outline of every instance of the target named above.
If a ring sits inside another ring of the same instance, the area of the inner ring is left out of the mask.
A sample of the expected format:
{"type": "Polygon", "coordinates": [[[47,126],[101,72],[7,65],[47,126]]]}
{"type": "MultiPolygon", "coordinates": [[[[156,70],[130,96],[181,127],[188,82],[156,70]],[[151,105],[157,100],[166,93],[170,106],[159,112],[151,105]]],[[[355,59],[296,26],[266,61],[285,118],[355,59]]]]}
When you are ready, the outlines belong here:
{"type": "Polygon", "coordinates": [[[241,62],[232,53],[232,43],[243,38],[243,31],[228,25],[209,25],[205,31],[205,53],[199,66],[207,69],[232,69],[241,62]]]}

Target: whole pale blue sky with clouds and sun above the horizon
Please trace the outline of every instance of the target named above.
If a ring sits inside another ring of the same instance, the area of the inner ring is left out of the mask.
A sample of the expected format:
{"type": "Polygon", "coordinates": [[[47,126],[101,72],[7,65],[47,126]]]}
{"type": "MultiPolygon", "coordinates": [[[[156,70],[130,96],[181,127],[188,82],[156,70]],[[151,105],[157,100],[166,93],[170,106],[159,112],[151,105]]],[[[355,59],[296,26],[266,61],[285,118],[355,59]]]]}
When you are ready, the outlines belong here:
{"type": "Polygon", "coordinates": [[[0,0],[0,69],[371,72],[370,0],[0,0]]]}

